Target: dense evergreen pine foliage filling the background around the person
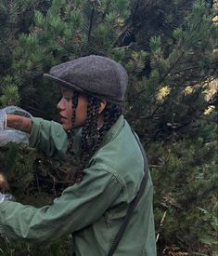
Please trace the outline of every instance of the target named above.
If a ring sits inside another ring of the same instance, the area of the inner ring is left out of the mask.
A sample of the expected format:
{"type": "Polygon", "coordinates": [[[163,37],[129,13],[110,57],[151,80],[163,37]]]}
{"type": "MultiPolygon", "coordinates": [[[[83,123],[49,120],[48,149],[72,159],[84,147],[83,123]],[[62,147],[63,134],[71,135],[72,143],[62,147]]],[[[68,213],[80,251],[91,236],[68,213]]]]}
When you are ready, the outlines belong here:
{"type": "MultiPolygon", "coordinates": [[[[99,54],[127,70],[125,115],[147,149],[160,255],[212,255],[217,247],[217,95],[207,96],[217,66],[212,15],[202,0],[0,0],[1,107],[20,104],[56,119],[58,87],[43,78],[51,66],[99,54]]],[[[19,201],[40,207],[57,195],[58,184],[35,184],[35,159],[43,181],[62,173],[44,157],[14,144],[1,149],[0,168],[19,201]]],[[[39,249],[1,240],[0,254],[66,255],[70,241],[39,249]]]]}

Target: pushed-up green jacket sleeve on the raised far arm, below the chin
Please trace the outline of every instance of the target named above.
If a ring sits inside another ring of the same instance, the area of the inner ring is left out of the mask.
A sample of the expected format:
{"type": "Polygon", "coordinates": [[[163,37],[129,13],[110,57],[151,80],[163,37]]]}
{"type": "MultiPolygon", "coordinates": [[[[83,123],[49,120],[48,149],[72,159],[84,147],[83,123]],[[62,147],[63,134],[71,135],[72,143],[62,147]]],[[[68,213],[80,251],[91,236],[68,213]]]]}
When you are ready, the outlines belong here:
{"type": "Polygon", "coordinates": [[[42,118],[32,118],[30,146],[43,151],[47,156],[63,159],[67,150],[67,135],[60,124],[42,118]]]}

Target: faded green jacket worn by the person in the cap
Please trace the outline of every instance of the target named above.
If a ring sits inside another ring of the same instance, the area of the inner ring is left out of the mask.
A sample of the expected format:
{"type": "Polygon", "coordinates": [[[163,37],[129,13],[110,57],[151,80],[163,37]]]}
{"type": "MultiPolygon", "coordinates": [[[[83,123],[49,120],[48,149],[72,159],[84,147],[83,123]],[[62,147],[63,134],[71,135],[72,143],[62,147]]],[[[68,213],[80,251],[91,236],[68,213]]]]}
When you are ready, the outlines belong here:
{"type": "MultiPolygon", "coordinates": [[[[75,141],[76,152],[79,135],[75,141]]],[[[63,157],[67,136],[58,123],[33,118],[30,144],[46,155],[63,157]]],[[[51,206],[37,209],[11,201],[0,204],[0,232],[35,243],[72,234],[77,256],[106,256],[144,175],[143,156],[123,116],[109,129],[89,164],[83,170],[83,181],[65,189],[51,206]]],[[[156,255],[152,195],[149,176],[114,255],[156,255]]]]}

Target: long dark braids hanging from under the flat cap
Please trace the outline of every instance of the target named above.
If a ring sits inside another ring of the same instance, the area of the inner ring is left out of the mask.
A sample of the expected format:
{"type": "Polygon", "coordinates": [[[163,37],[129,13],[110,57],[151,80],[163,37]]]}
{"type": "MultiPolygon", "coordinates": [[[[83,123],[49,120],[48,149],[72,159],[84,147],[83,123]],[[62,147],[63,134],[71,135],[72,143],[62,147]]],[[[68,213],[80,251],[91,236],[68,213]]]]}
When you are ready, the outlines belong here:
{"type": "MultiPolygon", "coordinates": [[[[73,155],[71,148],[73,143],[74,136],[74,121],[75,121],[75,109],[77,107],[79,98],[79,93],[76,92],[73,94],[72,99],[72,128],[68,131],[68,155],[73,155]]],[[[80,164],[77,168],[74,169],[74,181],[73,182],[81,182],[83,180],[83,168],[88,167],[89,160],[95,154],[98,149],[101,141],[103,140],[105,134],[111,128],[115,122],[118,120],[119,116],[122,115],[122,106],[107,102],[105,109],[103,110],[104,115],[104,124],[102,128],[97,128],[97,120],[98,120],[98,111],[101,100],[96,98],[95,96],[87,96],[88,104],[87,104],[87,115],[85,124],[82,130],[82,141],[81,141],[81,149],[82,154],[80,155],[80,164]]]]}

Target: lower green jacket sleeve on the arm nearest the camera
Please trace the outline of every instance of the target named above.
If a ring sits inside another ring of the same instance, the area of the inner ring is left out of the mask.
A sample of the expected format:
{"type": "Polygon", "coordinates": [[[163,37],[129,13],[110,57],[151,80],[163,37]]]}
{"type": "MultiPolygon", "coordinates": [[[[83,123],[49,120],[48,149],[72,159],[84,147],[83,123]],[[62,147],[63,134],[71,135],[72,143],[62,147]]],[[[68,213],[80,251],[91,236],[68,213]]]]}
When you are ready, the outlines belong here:
{"type": "Polygon", "coordinates": [[[87,168],[83,181],[67,188],[51,206],[0,204],[0,230],[7,238],[50,242],[96,222],[121,192],[122,183],[114,175],[87,168]]]}

